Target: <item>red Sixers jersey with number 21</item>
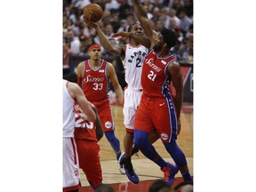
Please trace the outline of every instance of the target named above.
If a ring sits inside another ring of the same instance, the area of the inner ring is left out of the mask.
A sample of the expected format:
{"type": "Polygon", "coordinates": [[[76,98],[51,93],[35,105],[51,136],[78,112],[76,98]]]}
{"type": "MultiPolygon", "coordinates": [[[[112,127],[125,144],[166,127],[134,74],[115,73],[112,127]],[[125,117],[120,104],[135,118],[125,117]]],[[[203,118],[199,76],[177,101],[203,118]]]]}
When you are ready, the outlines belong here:
{"type": "Polygon", "coordinates": [[[170,96],[172,76],[166,75],[168,65],[176,60],[173,54],[160,58],[152,49],[144,60],[141,75],[143,96],[148,98],[163,98],[170,96]]]}

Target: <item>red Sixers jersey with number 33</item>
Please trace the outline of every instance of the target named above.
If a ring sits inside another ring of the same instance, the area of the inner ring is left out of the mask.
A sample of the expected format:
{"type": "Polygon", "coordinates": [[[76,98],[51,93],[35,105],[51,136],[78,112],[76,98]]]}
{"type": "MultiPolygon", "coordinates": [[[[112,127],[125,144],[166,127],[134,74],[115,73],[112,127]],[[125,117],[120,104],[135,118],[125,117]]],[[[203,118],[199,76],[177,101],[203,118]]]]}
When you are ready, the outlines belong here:
{"type": "Polygon", "coordinates": [[[92,68],[90,60],[84,60],[82,89],[87,100],[96,107],[108,100],[109,79],[107,76],[108,61],[101,60],[99,68],[92,68]]]}

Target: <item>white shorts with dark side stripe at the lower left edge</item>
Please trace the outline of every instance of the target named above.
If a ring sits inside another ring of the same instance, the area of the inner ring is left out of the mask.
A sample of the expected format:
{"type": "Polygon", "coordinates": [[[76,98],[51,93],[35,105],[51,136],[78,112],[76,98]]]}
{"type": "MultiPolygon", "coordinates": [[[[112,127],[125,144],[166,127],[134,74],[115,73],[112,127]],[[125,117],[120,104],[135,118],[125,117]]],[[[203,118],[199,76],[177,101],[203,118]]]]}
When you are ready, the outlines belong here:
{"type": "Polygon", "coordinates": [[[77,188],[80,184],[79,163],[74,138],[63,138],[63,188],[77,188]]]}

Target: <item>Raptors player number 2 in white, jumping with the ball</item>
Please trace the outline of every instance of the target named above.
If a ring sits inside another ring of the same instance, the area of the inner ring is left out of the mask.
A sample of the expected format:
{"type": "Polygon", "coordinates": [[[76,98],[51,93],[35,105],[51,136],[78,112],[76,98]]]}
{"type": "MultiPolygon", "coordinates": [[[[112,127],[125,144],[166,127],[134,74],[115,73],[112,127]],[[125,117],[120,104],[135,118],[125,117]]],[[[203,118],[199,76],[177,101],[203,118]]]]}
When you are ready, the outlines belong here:
{"type": "MultiPolygon", "coordinates": [[[[97,23],[91,22],[84,18],[84,22],[87,26],[95,28],[100,39],[100,44],[106,49],[107,52],[110,52],[116,56],[119,56],[123,62],[125,70],[125,82],[127,87],[124,89],[124,126],[126,128],[126,133],[124,136],[124,153],[120,156],[119,164],[122,167],[124,164],[124,170],[128,179],[133,184],[138,184],[140,182],[138,175],[133,170],[131,156],[132,154],[132,145],[133,145],[133,126],[135,114],[138,106],[140,105],[140,97],[142,94],[142,88],[140,84],[141,77],[141,68],[145,56],[148,54],[148,48],[150,42],[148,38],[144,38],[142,44],[137,43],[133,37],[136,39],[137,36],[143,36],[143,29],[140,24],[135,23],[128,28],[128,33],[125,33],[130,38],[130,44],[117,44],[112,45],[108,40],[107,36],[102,32],[97,23]],[[136,36],[133,36],[136,35],[136,36]]],[[[121,32],[122,33],[122,32],[121,32]]],[[[118,33],[116,34],[118,36],[118,33]]],[[[126,36],[126,37],[127,37],[126,36]]],[[[138,37],[137,37],[138,38],[138,37]]],[[[158,135],[155,132],[155,135],[152,134],[149,138],[150,142],[155,142],[158,140],[158,135]]]]}

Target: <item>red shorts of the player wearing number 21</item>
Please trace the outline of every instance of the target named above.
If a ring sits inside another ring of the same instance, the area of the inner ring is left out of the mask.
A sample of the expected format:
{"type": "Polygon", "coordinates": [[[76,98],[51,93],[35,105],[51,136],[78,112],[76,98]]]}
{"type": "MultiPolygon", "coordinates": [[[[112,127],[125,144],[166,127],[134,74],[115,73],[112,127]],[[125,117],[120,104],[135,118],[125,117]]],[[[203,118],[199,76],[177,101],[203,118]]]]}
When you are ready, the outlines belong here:
{"type": "Polygon", "coordinates": [[[134,129],[152,132],[156,129],[163,142],[177,140],[177,116],[171,99],[148,99],[142,96],[137,111],[134,129]]]}

